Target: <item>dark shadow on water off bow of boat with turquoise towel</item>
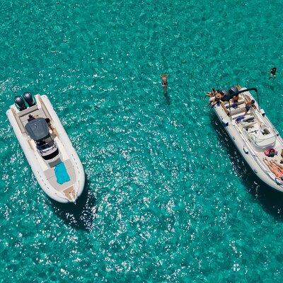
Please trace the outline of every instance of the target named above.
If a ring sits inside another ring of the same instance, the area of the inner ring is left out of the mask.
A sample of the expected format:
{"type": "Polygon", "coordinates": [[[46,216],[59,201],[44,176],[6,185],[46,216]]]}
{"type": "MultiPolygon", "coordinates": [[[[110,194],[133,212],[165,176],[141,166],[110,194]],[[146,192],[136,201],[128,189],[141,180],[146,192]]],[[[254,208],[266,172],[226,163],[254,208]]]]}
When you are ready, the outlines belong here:
{"type": "Polygon", "coordinates": [[[86,178],[83,193],[74,203],[62,204],[51,200],[54,212],[60,216],[64,222],[84,231],[93,229],[93,219],[96,216],[96,199],[93,192],[89,190],[89,183],[86,178]]]}

